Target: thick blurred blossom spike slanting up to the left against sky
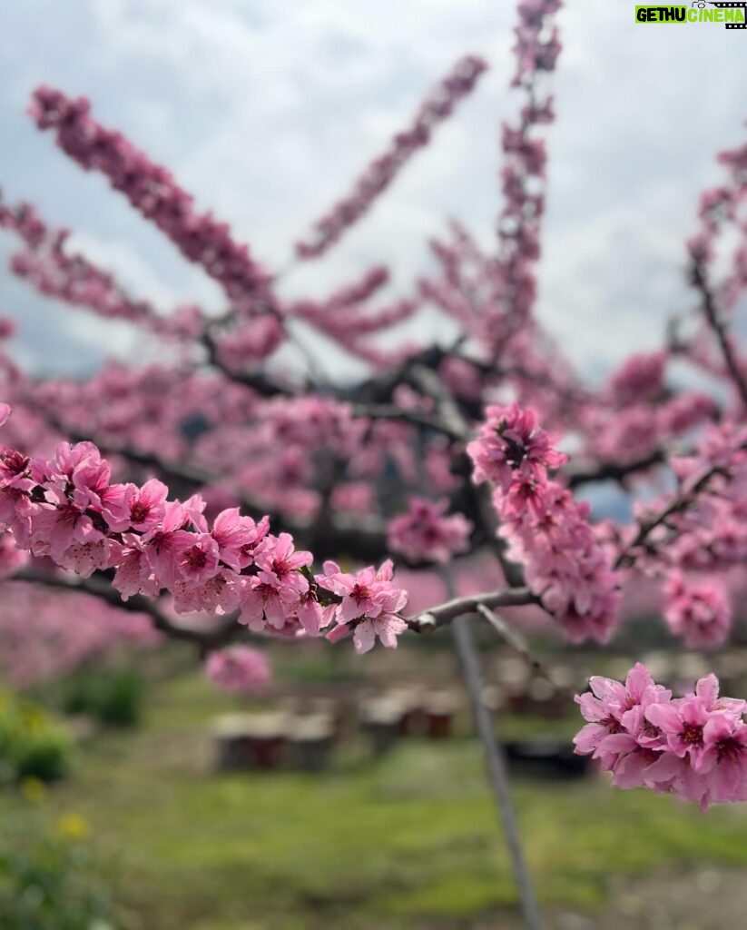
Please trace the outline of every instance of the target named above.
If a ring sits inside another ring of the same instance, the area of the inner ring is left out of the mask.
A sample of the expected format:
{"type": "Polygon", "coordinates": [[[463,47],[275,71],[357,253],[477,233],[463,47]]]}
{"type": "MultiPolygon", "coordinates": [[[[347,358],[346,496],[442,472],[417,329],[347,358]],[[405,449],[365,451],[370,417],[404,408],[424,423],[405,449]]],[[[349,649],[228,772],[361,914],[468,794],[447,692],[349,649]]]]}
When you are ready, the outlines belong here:
{"type": "Polygon", "coordinates": [[[106,175],[186,259],[223,286],[229,299],[241,302],[266,294],[268,275],[250,257],[248,247],[234,241],[228,225],[210,213],[197,213],[192,197],[170,171],[154,165],[121,133],[91,118],[88,100],[41,86],[34,92],[31,113],[40,129],[54,131],[63,152],[86,170],[106,175]]]}

